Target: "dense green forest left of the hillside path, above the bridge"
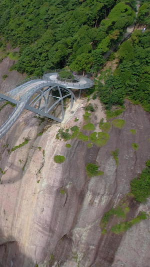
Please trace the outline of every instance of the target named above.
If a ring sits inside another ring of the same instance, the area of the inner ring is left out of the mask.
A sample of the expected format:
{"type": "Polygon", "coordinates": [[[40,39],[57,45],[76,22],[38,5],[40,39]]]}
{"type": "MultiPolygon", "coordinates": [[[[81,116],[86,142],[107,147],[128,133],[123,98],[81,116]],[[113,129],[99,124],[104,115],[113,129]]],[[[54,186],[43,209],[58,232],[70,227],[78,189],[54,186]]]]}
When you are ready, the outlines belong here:
{"type": "Polygon", "coordinates": [[[66,65],[94,71],[135,18],[135,0],[3,0],[1,45],[20,47],[14,68],[28,75],[66,65]],[[78,62],[81,62],[78,64],[78,62]],[[73,65],[71,65],[73,64],[73,65]]]}

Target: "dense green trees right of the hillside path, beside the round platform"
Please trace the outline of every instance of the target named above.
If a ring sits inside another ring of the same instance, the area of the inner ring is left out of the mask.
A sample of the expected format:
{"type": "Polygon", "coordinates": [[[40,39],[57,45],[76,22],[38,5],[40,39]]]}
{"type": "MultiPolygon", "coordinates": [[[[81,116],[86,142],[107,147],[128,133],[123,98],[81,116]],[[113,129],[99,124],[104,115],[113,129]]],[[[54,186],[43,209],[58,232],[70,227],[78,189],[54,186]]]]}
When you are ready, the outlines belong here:
{"type": "Polygon", "coordinates": [[[106,109],[123,105],[125,97],[150,111],[150,31],[136,30],[118,52],[119,65],[103,86],[98,84],[98,95],[106,109]]]}

